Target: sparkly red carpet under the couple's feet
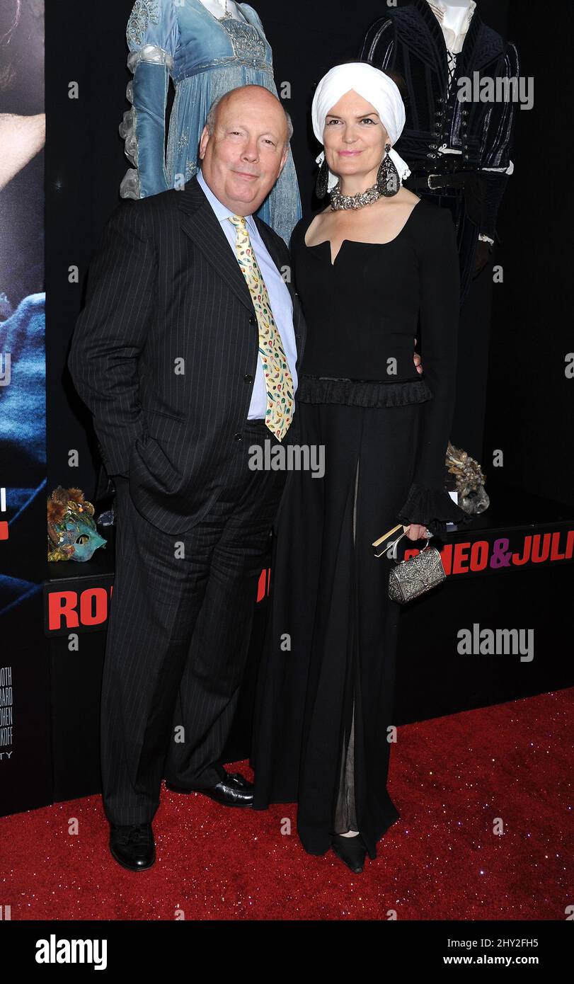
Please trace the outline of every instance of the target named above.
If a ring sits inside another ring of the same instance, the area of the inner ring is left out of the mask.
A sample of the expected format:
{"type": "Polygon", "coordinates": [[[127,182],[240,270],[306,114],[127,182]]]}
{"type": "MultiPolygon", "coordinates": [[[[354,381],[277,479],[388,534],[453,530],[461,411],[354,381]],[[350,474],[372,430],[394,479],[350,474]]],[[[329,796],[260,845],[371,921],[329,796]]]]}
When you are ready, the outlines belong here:
{"type": "Polygon", "coordinates": [[[141,874],[110,857],[99,796],[0,820],[2,903],[13,920],[174,919],[177,910],[187,920],[393,912],[402,920],[563,920],[572,901],[573,696],[558,691],[400,728],[389,789],[401,820],[361,875],[332,852],[305,854],[294,805],[231,810],[163,788],[158,861],[141,874]],[[77,834],[68,832],[74,818],[77,834]],[[501,833],[493,832],[497,818],[501,833]]]}

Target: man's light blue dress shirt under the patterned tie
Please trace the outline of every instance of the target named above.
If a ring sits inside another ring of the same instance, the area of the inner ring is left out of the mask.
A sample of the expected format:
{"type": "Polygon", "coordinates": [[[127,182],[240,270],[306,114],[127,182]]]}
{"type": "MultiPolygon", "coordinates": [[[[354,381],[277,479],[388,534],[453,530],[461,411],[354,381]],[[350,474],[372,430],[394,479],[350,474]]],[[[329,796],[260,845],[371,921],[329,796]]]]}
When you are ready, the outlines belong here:
{"type": "MultiPolygon", "coordinates": [[[[235,227],[231,225],[228,221],[228,216],[233,215],[230,209],[214,195],[211,188],[208,186],[201,169],[197,172],[197,180],[199,181],[201,187],[203,188],[207,200],[210,203],[212,209],[220,220],[220,225],[223,228],[223,232],[227,237],[229,246],[233,250],[233,256],[235,253],[235,227]]],[[[253,215],[246,215],[246,225],[249,230],[249,238],[251,240],[251,246],[253,252],[255,253],[255,259],[259,264],[259,269],[261,275],[265,281],[267,287],[267,292],[269,294],[269,300],[271,302],[271,310],[273,311],[273,317],[275,319],[275,324],[278,327],[279,334],[281,335],[281,340],[283,342],[283,347],[287,355],[287,364],[290,370],[290,374],[293,380],[293,395],[297,389],[297,376],[295,372],[295,362],[297,360],[297,347],[295,343],[295,332],[293,328],[293,305],[291,301],[291,295],[288,292],[287,283],[281,276],[279,270],[277,269],[272,257],[269,254],[263,239],[259,234],[259,230],[255,224],[253,215]]],[[[243,276],[243,275],[241,275],[243,276]]],[[[265,411],[267,409],[267,390],[265,389],[265,380],[263,377],[263,366],[261,364],[261,359],[257,359],[257,370],[255,373],[255,380],[253,382],[253,393],[251,395],[251,402],[249,404],[249,412],[247,414],[248,420],[258,420],[265,419],[265,411]]]]}

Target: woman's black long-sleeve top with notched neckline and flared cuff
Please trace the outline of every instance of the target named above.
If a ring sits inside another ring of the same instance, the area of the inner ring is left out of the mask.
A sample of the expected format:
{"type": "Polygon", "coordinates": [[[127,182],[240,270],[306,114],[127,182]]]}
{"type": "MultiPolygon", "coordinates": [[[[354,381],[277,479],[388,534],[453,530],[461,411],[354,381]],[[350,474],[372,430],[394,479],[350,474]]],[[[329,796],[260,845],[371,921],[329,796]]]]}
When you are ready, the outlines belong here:
{"type": "Polygon", "coordinates": [[[290,240],[308,329],[301,376],[413,383],[421,378],[413,361],[419,339],[422,379],[432,399],[421,406],[414,481],[397,519],[424,523],[444,539],[444,523],[466,518],[444,484],[460,287],[452,217],[421,200],[391,242],[346,239],[333,265],[329,242],[305,245],[309,225],[301,219],[290,240]]]}

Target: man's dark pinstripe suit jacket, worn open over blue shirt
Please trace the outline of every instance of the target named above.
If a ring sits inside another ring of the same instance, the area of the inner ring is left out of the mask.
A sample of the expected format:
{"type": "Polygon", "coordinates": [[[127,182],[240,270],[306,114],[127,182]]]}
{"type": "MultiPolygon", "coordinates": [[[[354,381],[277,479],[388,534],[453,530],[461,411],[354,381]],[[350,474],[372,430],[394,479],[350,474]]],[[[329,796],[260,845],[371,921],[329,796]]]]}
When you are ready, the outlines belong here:
{"type": "MultiPolygon", "coordinates": [[[[254,217],[290,272],[286,243],[254,217]]],[[[287,288],[298,370],[306,330],[290,277],[287,288]]],[[[247,455],[258,345],[249,289],[197,177],[181,191],[123,200],[91,264],[68,366],[108,474],[129,478],[136,507],[159,529],[198,523],[231,457],[247,455]]],[[[295,412],[286,442],[296,430],[295,412]]]]}

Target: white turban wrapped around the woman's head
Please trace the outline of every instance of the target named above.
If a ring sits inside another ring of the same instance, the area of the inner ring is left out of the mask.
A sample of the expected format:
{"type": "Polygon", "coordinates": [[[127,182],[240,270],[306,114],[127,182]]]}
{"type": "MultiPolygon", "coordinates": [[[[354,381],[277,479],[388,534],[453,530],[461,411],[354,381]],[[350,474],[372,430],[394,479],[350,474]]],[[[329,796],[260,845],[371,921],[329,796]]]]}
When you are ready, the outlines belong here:
{"type": "MultiPolygon", "coordinates": [[[[313,123],[313,133],[319,141],[323,143],[323,130],[327,113],[339,102],[339,99],[347,92],[357,92],[363,99],[370,102],[379,114],[381,123],[389,134],[391,144],[401,136],[405,126],[405,105],[401,98],[401,93],[397,86],[388,75],[368,65],[366,62],[351,62],[348,65],[336,65],[327,75],[324,75],[315,90],[313,104],[311,106],[311,120],[313,123]]],[[[408,178],[411,171],[407,163],[395,150],[389,152],[395,167],[399,172],[399,178],[403,183],[408,178]]],[[[316,161],[322,164],[325,153],[321,151],[316,161]]],[[[339,178],[329,170],[329,191],[337,184],[339,178]]]]}

